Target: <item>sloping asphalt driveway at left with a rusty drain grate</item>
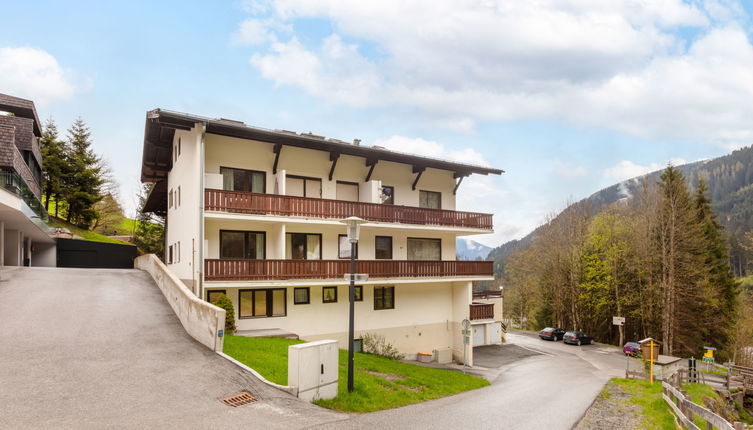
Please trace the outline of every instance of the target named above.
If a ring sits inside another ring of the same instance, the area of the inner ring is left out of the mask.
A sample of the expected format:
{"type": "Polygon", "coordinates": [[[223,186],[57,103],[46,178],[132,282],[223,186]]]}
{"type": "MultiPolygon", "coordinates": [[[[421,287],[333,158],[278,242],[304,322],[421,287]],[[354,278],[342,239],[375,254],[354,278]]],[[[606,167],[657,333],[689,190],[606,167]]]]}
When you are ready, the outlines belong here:
{"type": "Polygon", "coordinates": [[[291,429],[346,417],[194,341],[144,272],[16,268],[0,278],[2,429],[291,429]],[[241,390],[260,400],[219,402],[241,390]]]}

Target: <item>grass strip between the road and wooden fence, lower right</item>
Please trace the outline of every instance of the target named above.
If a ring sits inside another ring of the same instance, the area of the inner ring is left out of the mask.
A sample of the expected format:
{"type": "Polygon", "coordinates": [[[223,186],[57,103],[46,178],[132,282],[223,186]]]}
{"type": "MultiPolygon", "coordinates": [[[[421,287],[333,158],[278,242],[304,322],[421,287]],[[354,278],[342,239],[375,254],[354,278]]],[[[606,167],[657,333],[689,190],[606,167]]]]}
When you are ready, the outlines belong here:
{"type": "Polygon", "coordinates": [[[622,391],[630,394],[630,402],[641,409],[643,420],[640,428],[675,430],[675,417],[662,398],[661,382],[650,384],[638,379],[612,378],[622,391]]]}

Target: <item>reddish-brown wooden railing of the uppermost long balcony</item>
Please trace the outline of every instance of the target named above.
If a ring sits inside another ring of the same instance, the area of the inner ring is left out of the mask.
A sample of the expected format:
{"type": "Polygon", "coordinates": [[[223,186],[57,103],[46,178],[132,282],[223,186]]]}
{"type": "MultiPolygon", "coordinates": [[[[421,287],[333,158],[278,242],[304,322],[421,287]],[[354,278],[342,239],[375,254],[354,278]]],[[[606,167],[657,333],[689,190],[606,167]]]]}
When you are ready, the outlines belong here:
{"type": "Polygon", "coordinates": [[[335,219],[357,216],[377,222],[467,227],[483,230],[493,228],[491,214],[280,196],[277,194],[257,194],[243,191],[206,189],[204,190],[204,208],[208,211],[257,215],[335,219]]]}

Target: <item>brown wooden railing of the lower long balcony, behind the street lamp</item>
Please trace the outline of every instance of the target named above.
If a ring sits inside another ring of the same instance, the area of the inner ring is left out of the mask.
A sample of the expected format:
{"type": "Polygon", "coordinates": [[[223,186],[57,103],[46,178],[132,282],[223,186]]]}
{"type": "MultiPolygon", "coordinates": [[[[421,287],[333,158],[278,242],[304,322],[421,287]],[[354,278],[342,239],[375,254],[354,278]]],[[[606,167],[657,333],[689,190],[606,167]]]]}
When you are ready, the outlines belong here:
{"type": "MultiPolygon", "coordinates": [[[[359,260],[357,273],[369,278],[492,276],[491,261],[359,260]]],[[[207,281],[343,279],[349,260],[205,260],[207,281]]]]}

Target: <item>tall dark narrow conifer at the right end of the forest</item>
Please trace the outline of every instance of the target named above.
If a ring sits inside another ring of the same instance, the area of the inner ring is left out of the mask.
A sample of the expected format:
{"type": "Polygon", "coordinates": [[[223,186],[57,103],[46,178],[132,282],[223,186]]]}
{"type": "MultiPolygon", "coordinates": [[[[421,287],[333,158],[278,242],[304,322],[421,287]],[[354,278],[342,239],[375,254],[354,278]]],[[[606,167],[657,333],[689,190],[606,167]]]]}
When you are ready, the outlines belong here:
{"type": "Polygon", "coordinates": [[[708,187],[703,179],[698,180],[694,206],[701,233],[700,258],[704,272],[699,284],[699,300],[694,306],[695,313],[703,316],[703,341],[715,346],[727,346],[734,337],[739,288],[729,264],[724,227],[711,207],[708,187]]]}

